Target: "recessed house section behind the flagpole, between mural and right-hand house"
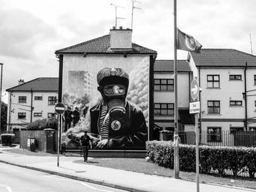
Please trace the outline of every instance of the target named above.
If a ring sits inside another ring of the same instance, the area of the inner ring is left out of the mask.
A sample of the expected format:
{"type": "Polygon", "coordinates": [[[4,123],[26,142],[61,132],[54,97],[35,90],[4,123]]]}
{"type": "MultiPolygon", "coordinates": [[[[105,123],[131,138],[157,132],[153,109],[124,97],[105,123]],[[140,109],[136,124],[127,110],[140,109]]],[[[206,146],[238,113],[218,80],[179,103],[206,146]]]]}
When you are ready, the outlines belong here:
{"type": "MultiPolygon", "coordinates": [[[[177,72],[179,131],[194,131],[195,118],[193,115],[189,115],[189,92],[192,79],[192,69],[189,62],[178,60],[177,72]]],[[[159,139],[157,131],[173,131],[173,123],[173,60],[156,60],[154,63],[154,139],[159,139]]]]}

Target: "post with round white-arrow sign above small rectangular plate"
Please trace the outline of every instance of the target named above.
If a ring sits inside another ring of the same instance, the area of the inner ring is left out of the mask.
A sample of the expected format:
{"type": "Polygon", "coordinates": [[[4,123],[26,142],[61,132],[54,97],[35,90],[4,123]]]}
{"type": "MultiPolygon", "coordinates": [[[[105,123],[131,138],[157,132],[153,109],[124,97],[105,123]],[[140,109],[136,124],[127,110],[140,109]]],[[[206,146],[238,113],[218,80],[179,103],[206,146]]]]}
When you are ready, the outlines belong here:
{"type": "Polygon", "coordinates": [[[195,114],[195,162],[196,162],[196,181],[197,181],[197,192],[199,192],[199,131],[198,131],[198,114],[200,113],[200,101],[199,96],[199,85],[197,78],[194,78],[191,82],[191,97],[194,102],[189,103],[189,113],[195,114]]]}

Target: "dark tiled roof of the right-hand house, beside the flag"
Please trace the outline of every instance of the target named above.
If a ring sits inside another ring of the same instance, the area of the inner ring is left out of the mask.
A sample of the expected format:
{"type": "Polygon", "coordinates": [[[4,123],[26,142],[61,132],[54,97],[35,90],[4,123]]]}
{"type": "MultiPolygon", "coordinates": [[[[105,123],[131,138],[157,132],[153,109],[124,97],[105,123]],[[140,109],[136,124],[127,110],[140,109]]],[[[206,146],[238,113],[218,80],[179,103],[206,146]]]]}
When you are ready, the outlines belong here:
{"type": "Polygon", "coordinates": [[[196,66],[248,66],[256,67],[256,56],[233,49],[201,49],[191,53],[196,66]]]}

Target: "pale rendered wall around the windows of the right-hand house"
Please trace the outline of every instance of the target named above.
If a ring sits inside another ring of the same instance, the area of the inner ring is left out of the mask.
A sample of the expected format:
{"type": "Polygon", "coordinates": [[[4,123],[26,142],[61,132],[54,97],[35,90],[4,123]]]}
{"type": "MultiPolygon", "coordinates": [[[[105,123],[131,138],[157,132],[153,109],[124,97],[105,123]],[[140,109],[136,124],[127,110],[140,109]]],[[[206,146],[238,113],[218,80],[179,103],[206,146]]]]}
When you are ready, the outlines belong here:
{"type": "MultiPolygon", "coordinates": [[[[253,74],[255,69],[249,69],[246,74],[247,90],[255,88],[253,74]]],[[[244,93],[244,69],[243,68],[200,68],[202,130],[207,131],[208,126],[221,126],[222,131],[230,131],[230,126],[244,126],[245,100],[244,93]],[[207,74],[219,74],[219,88],[207,88],[207,74]],[[241,80],[229,80],[230,74],[240,74],[241,80]],[[208,100],[220,101],[220,114],[208,114],[208,100]],[[230,106],[230,100],[242,101],[242,106],[230,106]],[[208,122],[208,123],[206,123],[208,122]]],[[[254,96],[255,98],[255,96],[254,96]]],[[[256,116],[253,96],[248,99],[248,118],[256,116]]],[[[256,99],[255,99],[256,100],[256,99]]],[[[251,124],[252,126],[255,123],[251,124]]]]}

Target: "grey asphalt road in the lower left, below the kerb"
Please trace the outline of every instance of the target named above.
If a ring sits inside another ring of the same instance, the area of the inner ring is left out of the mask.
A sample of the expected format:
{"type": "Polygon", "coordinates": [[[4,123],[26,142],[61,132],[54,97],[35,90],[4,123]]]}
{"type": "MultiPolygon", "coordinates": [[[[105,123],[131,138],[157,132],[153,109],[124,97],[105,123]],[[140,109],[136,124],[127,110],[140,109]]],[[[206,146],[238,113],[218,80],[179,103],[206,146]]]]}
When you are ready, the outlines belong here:
{"type": "Polygon", "coordinates": [[[1,192],[125,192],[2,163],[0,163],[0,178],[1,192]]]}

